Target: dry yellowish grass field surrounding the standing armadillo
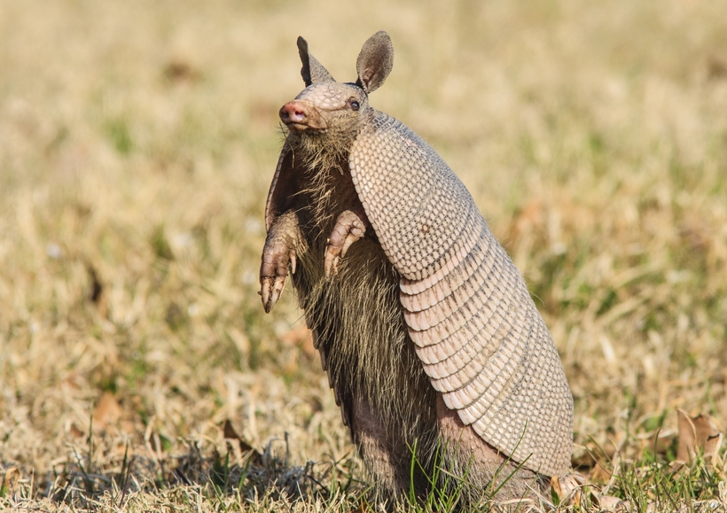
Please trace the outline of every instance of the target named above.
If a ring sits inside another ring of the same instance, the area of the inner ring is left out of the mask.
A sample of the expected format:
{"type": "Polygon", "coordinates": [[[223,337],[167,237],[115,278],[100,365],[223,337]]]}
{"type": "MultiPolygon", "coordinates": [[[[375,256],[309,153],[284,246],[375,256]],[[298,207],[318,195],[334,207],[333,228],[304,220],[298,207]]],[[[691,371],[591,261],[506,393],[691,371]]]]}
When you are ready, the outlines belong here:
{"type": "Polygon", "coordinates": [[[727,422],[705,0],[0,0],[0,509],[365,510],[293,294],[256,292],[295,39],[350,81],[379,29],[371,104],[465,181],[559,348],[593,485],[559,508],[727,510],[724,449],[674,462],[677,408],[727,422]]]}

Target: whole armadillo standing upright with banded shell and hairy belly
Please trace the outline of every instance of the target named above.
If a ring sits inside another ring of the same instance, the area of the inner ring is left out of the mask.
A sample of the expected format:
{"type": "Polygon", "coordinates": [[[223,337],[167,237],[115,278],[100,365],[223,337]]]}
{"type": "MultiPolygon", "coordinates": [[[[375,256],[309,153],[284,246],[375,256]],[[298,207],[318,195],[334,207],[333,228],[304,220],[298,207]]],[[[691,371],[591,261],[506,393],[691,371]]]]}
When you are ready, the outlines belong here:
{"type": "Polygon", "coordinates": [[[356,83],[335,82],[301,37],[298,50],[307,87],[280,109],[265,311],[290,269],[343,420],[387,496],[424,496],[434,476],[465,483],[467,501],[542,492],[570,466],[558,352],[463,183],[369,105],[393,66],[389,36],[363,44],[356,83]]]}

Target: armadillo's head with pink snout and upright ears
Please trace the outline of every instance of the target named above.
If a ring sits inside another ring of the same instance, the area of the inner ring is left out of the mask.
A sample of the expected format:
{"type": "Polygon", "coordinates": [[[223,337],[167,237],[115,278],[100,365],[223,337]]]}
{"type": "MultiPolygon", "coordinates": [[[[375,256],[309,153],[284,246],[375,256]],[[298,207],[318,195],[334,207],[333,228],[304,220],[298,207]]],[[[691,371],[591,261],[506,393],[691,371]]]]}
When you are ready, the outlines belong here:
{"type": "Polygon", "coordinates": [[[322,151],[326,145],[340,151],[341,145],[350,145],[371,118],[369,93],[384,83],[394,63],[391,39],[380,31],[363,43],[356,60],[356,83],[336,82],[310,54],[302,37],[298,38],[298,51],[303,63],[301,75],[308,87],[283,105],[280,119],[293,139],[303,140],[306,146],[315,140],[322,151]]]}

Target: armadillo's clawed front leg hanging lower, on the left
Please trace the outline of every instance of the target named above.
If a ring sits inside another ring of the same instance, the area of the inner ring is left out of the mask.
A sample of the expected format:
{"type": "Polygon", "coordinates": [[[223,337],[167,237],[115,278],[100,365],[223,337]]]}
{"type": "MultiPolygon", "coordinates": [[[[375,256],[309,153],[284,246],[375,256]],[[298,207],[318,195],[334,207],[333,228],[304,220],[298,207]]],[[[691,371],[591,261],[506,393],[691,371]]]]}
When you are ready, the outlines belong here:
{"type": "Polygon", "coordinates": [[[260,295],[265,312],[270,312],[280,298],[288,265],[295,274],[296,247],[300,241],[298,216],[292,211],[280,215],[268,230],[260,265],[260,295]]]}

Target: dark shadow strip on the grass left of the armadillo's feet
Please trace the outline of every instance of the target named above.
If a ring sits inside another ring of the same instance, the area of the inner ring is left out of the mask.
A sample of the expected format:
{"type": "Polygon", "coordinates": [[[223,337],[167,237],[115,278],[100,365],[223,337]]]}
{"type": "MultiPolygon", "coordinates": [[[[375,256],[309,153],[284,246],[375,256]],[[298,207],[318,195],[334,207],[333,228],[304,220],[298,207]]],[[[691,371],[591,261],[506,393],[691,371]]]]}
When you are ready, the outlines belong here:
{"type": "Polygon", "coordinates": [[[223,509],[261,501],[327,504],[341,495],[360,503],[368,494],[355,478],[352,458],[295,466],[288,462],[288,450],[282,457],[273,453],[272,442],[262,453],[245,446],[242,440],[228,440],[230,452],[204,455],[197,444],[189,444],[184,454],[161,457],[131,455],[127,447],[121,461],[112,459],[103,466],[89,457],[92,451],[81,454],[74,448],[75,457],[43,476],[0,462],[0,504],[21,507],[23,502],[47,500],[58,509],[97,510],[103,504],[122,510],[134,495],[164,495],[181,487],[223,509]]]}

